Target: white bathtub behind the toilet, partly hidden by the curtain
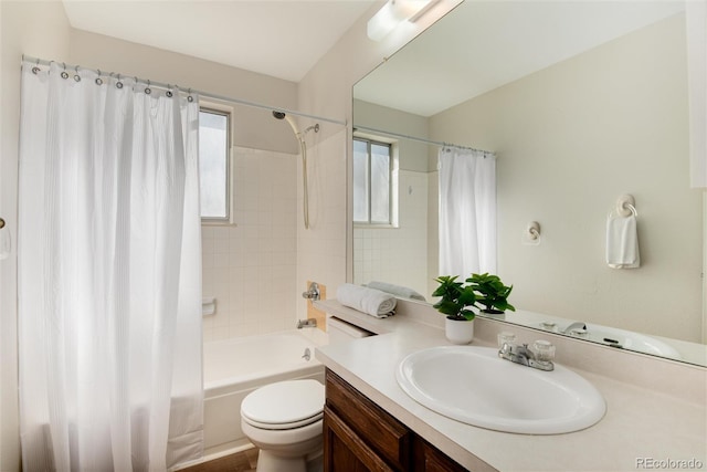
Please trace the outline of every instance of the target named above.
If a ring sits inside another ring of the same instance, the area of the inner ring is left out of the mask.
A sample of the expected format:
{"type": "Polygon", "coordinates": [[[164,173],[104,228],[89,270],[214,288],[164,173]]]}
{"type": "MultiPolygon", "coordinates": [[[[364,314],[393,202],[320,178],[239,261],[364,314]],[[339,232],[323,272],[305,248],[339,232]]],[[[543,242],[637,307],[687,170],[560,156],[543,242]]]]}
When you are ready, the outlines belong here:
{"type": "Polygon", "coordinates": [[[250,445],[241,431],[241,402],[257,387],[299,378],[324,384],[324,366],[314,358],[314,349],[326,336],[313,329],[318,331],[305,328],[204,343],[204,458],[250,445]]]}

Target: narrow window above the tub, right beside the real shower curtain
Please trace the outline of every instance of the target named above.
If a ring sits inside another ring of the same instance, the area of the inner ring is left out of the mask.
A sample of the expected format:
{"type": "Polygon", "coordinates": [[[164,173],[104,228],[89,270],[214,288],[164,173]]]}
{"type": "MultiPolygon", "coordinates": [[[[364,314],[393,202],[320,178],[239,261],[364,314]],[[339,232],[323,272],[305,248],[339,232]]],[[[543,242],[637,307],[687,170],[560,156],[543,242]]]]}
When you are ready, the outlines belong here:
{"type": "Polygon", "coordinates": [[[199,179],[204,222],[230,222],[230,122],[228,112],[209,108],[199,112],[199,179]]]}

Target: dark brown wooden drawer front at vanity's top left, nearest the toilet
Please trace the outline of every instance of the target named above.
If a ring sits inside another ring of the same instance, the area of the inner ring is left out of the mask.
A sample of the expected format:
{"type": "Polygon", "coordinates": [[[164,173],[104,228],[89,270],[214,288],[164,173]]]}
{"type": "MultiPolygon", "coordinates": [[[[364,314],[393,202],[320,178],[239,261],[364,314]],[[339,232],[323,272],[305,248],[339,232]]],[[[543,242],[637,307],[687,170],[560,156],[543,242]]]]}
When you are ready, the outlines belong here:
{"type": "Polygon", "coordinates": [[[408,470],[411,432],[354,387],[327,370],[327,407],[394,470],[408,470]]]}

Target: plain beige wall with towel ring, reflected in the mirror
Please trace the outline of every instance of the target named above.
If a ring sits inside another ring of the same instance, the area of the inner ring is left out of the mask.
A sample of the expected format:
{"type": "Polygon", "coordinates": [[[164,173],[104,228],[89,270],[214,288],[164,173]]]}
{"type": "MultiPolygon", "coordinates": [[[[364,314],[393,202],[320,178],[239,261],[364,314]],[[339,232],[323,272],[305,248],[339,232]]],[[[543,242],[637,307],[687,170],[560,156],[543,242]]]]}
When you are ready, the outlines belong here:
{"type": "Polygon", "coordinates": [[[437,139],[498,155],[498,268],[525,310],[699,342],[701,192],[689,188],[682,17],[441,113],[437,139]],[[632,193],[642,266],[604,263],[632,193]],[[538,247],[520,244],[529,221],[538,247]]]}

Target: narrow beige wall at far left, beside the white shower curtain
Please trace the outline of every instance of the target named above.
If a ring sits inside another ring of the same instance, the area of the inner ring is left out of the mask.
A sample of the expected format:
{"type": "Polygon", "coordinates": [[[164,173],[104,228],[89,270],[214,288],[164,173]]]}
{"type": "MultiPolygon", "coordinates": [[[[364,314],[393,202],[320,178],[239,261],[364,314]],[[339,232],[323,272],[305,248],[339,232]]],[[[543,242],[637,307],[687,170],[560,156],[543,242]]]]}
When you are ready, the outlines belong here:
{"type": "MultiPolygon", "coordinates": [[[[61,2],[0,2],[0,217],[17,243],[18,135],[22,54],[64,57],[70,27],[61,2]]],[[[20,468],[17,253],[0,261],[0,470],[20,468]]]]}

